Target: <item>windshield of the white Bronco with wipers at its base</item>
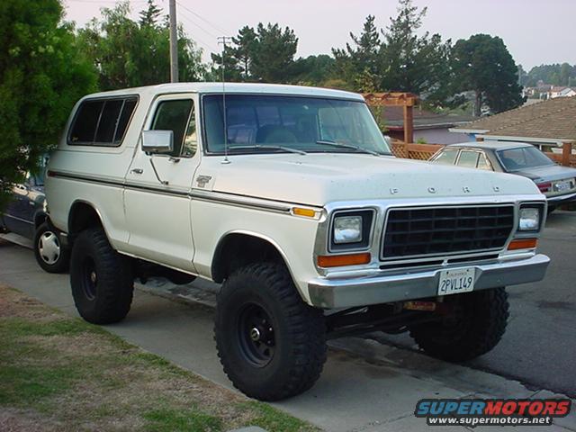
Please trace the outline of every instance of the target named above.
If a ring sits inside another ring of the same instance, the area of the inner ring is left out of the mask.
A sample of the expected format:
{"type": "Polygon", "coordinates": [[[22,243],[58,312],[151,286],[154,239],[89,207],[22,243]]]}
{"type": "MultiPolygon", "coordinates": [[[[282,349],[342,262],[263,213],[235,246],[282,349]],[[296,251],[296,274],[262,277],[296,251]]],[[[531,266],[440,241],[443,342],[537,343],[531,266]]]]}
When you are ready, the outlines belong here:
{"type": "MultiPolygon", "coordinates": [[[[222,95],[205,95],[202,101],[207,149],[221,154],[222,95]]],[[[391,154],[372,113],[360,101],[227,94],[226,114],[229,153],[294,149],[307,153],[391,154]]]]}

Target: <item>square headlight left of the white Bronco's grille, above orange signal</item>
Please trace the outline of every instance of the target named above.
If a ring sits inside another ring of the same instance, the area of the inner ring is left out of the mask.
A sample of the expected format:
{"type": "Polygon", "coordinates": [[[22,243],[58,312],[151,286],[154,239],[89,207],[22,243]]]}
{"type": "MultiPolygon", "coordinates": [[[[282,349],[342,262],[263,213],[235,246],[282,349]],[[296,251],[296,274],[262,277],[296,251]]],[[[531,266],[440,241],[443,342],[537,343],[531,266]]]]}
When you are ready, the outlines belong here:
{"type": "Polygon", "coordinates": [[[336,211],[332,217],[329,250],[361,250],[370,247],[373,209],[336,211]]]}

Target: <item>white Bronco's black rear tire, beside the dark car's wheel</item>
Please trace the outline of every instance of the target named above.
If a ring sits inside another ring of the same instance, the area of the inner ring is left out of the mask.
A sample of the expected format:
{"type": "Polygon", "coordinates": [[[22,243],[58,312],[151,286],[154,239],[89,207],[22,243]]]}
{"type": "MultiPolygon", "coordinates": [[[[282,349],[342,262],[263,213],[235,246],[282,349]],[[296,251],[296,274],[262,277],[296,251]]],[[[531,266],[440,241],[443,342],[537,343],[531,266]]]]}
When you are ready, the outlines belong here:
{"type": "Polygon", "coordinates": [[[80,232],[72,248],[70,285],[80,316],[94,324],[118,322],[130,311],[134,276],[101,228],[80,232]]]}

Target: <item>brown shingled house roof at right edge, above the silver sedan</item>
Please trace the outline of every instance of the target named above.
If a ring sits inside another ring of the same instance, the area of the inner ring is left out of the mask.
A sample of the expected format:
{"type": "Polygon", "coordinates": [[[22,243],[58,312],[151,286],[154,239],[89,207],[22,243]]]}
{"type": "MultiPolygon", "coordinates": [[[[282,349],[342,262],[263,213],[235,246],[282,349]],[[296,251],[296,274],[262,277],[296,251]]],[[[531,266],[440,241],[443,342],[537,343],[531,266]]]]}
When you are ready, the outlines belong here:
{"type": "Polygon", "coordinates": [[[576,96],[558,97],[451,129],[485,137],[542,142],[576,140],[576,96]]]}

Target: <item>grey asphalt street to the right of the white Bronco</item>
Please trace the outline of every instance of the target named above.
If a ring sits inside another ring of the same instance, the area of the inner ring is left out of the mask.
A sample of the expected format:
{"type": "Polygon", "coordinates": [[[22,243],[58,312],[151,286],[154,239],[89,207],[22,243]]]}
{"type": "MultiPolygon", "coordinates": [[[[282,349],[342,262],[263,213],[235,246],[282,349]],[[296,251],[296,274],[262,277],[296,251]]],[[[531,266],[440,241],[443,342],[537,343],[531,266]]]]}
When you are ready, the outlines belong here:
{"type": "MultiPolygon", "coordinates": [[[[509,287],[510,319],[498,347],[468,365],[528,388],[576,397],[576,211],[548,216],[539,251],[552,259],[545,280],[509,287]]],[[[377,340],[416,349],[407,335],[377,340]]]]}

